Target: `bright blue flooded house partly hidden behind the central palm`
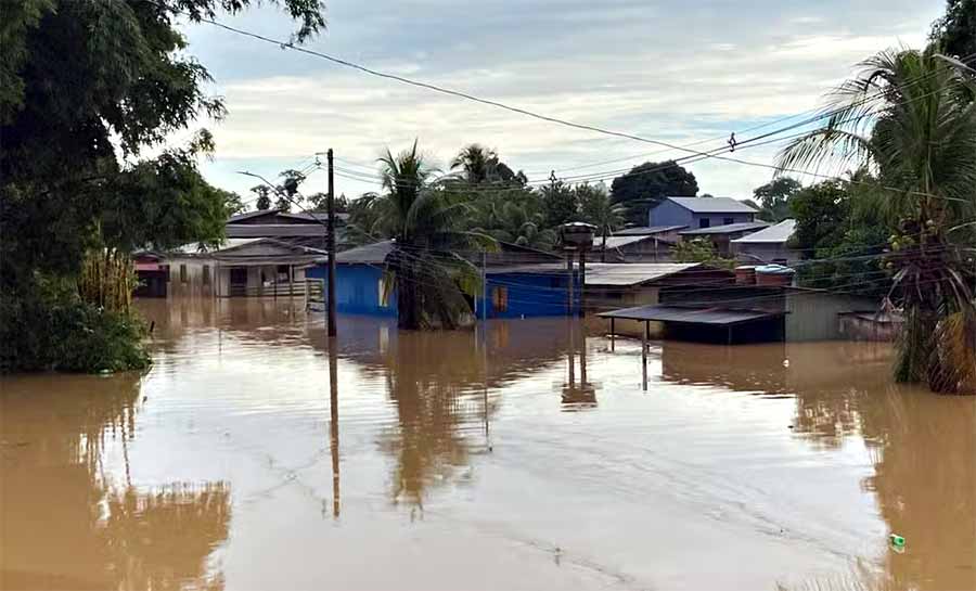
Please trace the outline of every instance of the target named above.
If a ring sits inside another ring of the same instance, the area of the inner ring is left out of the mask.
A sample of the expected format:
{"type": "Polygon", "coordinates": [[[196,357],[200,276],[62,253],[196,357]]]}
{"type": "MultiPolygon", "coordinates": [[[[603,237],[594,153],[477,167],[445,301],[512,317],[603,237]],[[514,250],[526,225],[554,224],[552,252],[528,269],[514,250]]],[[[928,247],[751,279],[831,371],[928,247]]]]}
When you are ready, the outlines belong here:
{"type": "MultiPolygon", "coordinates": [[[[336,255],[336,310],[339,313],[380,317],[397,316],[396,288],[384,293],[384,273],[393,241],[384,241],[345,250],[336,255]],[[384,297],[386,296],[386,297],[384,297]]],[[[487,256],[487,301],[474,298],[474,311],[488,318],[565,316],[567,278],[562,257],[512,244],[502,244],[501,253],[487,256]]],[[[479,264],[480,261],[475,261],[479,264]]],[[[319,259],[306,269],[306,278],[325,280],[328,259],[319,259]]],[[[575,284],[577,282],[574,282],[575,284]]],[[[578,285],[577,285],[578,290],[578,285]]],[[[575,294],[573,308],[578,305],[575,294]]]]}

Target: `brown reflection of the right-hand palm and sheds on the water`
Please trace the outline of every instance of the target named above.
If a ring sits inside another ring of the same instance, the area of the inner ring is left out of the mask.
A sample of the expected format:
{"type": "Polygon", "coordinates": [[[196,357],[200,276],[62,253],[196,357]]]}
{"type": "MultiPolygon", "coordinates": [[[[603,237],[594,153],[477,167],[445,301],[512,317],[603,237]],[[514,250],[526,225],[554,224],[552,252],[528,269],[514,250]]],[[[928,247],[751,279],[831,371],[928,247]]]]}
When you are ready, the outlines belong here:
{"type": "Polygon", "coordinates": [[[976,589],[976,399],[890,384],[884,344],[666,343],[662,357],[669,380],[793,397],[792,427],[816,448],[868,446],[874,474],[862,486],[907,550],[886,552],[882,575],[853,569],[806,588],[976,589]]]}

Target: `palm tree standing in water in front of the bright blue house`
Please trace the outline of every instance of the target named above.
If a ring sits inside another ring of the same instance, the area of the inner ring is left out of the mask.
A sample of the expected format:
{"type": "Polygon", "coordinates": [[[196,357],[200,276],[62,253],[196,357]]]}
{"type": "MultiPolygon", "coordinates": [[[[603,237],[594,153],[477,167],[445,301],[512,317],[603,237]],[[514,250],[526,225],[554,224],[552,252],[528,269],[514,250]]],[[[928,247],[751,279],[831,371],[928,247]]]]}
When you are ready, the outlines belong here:
{"type": "Polygon", "coordinates": [[[464,229],[468,205],[428,182],[436,172],[413,147],[378,159],[384,193],[369,196],[373,235],[395,240],[387,258],[387,288],[396,285],[401,329],[454,329],[471,311],[464,293],[480,286],[477,269],[460,252],[491,248],[492,241],[464,229]]]}

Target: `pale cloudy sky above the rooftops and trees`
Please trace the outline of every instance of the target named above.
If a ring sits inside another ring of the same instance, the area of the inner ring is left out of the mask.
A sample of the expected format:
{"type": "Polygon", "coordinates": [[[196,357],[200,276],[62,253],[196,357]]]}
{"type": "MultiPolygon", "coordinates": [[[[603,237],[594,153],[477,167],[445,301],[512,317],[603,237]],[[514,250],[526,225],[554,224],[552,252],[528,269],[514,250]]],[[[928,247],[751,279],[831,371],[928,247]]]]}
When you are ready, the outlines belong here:
{"type": "MultiPolygon", "coordinates": [[[[742,140],[750,136],[742,130],[817,107],[876,51],[920,47],[942,8],[942,0],[328,0],[329,28],[306,47],[550,116],[707,150],[723,145],[731,131],[742,140]]],[[[220,20],[280,39],[294,30],[273,7],[220,20]]],[[[242,194],[255,182],[237,170],[274,177],[332,147],[343,168],[337,192],[356,196],[376,189],[369,179],[381,151],[397,152],[414,138],[441,167],[461,146],[479,142],[532,180],[552,169],[560,177],[612,177],[683,155],[374,78],[206,24],[185,31],[215,78],[211,91],[230,111],[209,126],[218,152],[205,175],[242,194]]],[[[770,164],[776,147],[735,155],[770,164]]],[[[714,159],[689,168],[702,192],[739,198],[771,174],[714,159]]],[[[325,176],[307,182],[307,191],[324,190],[325,176]]]]}

